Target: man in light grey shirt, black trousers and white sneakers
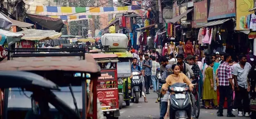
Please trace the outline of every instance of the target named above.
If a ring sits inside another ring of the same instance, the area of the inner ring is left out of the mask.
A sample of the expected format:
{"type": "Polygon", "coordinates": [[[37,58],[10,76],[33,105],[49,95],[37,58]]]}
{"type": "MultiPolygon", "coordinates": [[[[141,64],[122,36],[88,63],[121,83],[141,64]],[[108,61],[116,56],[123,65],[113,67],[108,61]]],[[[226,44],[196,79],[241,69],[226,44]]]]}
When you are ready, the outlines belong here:
{"type": "Polygon", "coordinates": [[[238,109],[238,116],[242,117],[243,112],[246,117],[249,117],[249,92],[250,81],[247,76],[252,68],[250,63],[246,62],[246,55],[239,55],[239,63],[234,65],[232,74],[234,75],[234,82],[236,86],[235,90],[235,102],[238,109]],[[243,104],[242,101],[243,100],[243,104]]]}

